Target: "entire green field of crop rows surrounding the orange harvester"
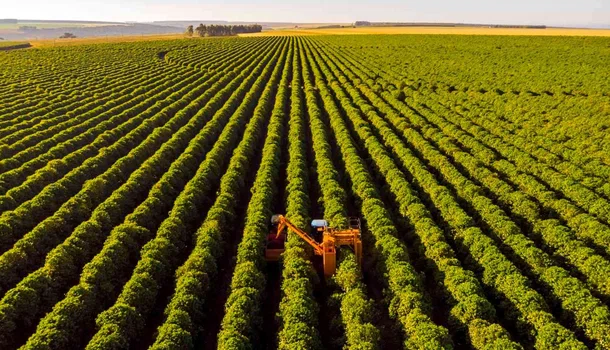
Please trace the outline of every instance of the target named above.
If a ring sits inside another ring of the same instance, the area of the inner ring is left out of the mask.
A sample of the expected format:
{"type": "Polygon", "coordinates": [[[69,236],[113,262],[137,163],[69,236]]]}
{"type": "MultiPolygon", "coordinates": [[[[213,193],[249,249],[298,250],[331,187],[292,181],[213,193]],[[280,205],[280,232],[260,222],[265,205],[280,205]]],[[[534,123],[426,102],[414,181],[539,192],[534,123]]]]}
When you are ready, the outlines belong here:
{"type": "Polygon", "coordinates": [[[610,349],[610,39],[0,53],[1,349],[610,349]],[[273,214],[363,224],[337,273],[273,214]]]}

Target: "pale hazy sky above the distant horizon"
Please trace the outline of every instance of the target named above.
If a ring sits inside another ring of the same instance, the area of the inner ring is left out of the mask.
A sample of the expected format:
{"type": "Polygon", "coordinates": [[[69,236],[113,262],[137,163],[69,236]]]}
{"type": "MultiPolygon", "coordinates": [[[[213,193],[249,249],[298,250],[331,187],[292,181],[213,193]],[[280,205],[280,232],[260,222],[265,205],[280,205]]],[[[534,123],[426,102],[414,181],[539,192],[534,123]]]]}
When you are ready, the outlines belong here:
{"type": "Polygon", "coordinates": [[[610,26],[610,0],[0,0],[0,18],[610,26]]]}

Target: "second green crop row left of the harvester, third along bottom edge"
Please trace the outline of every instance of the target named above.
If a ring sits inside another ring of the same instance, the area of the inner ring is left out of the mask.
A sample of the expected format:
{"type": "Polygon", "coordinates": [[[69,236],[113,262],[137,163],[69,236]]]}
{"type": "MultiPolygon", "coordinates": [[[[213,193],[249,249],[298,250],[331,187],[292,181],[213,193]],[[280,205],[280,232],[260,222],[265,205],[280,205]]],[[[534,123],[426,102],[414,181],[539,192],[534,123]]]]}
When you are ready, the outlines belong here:
{"type": "MultiPolygon", "coordinates": [[[[244,99],[244,106],[253,105],[260,93],[260,87],[265,86],[256,102],[244,137],[233,152],[229,167],[221,178],[216,200],[195,233],[195,248],[178,269],[175,293],[165,309],[166,319],[159,327],[159,335],[152,346],[153,349],[193,347],[193,339],[198,333],[196,325],[203,319],[201,311],[211,287],[210,283],[218,273],[216,261],[223,251],[226,235],[238,226],[234,223],[238,198],[240,193],[247,190],[246,179],[253,170],[252,167],[256,165],[253,159],[256,159],[255,152],[264,139],[264,131],[267,130],[273,97],[282,67],[286,63],[286,51],[284,46],[275,66],[268,66],[261,73],[262,79],[255,83],[252,94],[244,99]],[[271,77],[266,81],[269,75],[271,77]]],[[[238,110],[237,113],[239,112],[241,111],[238,110]]]]}

